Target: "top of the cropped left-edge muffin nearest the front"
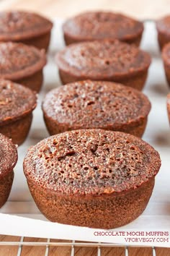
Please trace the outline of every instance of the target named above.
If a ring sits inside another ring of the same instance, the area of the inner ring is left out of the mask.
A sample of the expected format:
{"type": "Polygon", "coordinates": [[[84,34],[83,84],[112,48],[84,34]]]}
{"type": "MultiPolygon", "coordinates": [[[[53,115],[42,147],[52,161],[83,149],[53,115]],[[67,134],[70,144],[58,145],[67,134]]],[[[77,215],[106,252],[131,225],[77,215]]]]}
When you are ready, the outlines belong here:
{"type": "Polygon", "coordinates": [[[9,174],[17,163],[17,148],[8,137],[0,133],[0,178],[9,174]]]}

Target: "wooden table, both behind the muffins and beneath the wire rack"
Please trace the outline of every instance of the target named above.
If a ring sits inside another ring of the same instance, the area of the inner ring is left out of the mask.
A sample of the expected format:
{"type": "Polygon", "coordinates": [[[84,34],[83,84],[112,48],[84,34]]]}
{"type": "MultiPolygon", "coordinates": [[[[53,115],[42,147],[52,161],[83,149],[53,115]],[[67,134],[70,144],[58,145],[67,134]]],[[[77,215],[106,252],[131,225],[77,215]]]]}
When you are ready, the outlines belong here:
{"type": "MultiPolygon", "coordinates": [[[[48,17],[69,17],[79,12],[90,9],[105,9],[115,12],[125,12],[138,19],[156,19],[170,13],[170,1],[167,0],[4,0],[0,2],[0,10],[25,9],[40,12],[48,17]]],[[[0,241],[19,241],[17,236],[0,236],[0,241]]],[[[44,242],[43,239],[26,238],[27,242],[44,242]]],[[[55,241],[55,240],[54,240],[55,241]]],[[[16,256],[17,247],[0,247],[0,256],[16,256]]],[[[71,248],[51,247],[49,256],[70,255],[71,248]]],[[[45,247],[23,247],[22,256],[41,256],[45,254],[45,247]]],[[[102,256],[122,256],[125,250],[122,248],[104,248],[102,256]]],[[[75,250],[76,256],[97,255],[96,248],[79,248],[75,250]]],[[[150,256],[151,248],[130,248],[130,256],[150,256]]],[[[170,249],[156,248],[157,256],[169,256],[170,249]]]]}

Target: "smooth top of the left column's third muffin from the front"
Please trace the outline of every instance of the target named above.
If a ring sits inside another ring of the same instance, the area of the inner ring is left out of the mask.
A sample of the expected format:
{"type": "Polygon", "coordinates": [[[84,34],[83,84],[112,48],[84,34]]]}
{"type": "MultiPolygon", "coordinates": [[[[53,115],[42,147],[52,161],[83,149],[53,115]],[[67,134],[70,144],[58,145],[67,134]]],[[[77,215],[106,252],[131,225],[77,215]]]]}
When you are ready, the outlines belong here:
{"type": "Polygon", "coordinates": [[[39,71],[46,64],[45,52],[23,43],[0,43],[0,77],[17,80],[39,71]]]}

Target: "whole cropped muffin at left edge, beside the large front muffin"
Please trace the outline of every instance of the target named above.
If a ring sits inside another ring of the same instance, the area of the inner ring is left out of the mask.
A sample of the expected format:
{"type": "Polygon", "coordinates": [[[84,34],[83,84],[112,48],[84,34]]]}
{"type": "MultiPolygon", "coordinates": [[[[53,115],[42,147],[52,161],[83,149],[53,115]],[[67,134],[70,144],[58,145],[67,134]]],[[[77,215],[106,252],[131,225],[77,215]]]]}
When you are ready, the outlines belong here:
{"type": "Polygon", "coordinates": [[[17,163],[17,148],[9,138],[0,134],[0,208],[9,197],[17,163]]]}

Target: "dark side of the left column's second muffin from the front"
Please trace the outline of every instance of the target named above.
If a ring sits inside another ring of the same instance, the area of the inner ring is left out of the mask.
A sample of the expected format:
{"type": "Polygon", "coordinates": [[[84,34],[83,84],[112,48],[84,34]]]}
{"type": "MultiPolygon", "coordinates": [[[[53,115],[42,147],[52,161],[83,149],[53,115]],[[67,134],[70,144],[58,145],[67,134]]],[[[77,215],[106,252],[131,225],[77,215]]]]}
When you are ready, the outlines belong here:
{"type": "Polygon", "coordinates": [[[23,116],[21,119],[12,121],[0,127],[0,133],[6,137],[12,138],[12,142],[21,145],[30,131],[32,123],[32,112],[23,116]]]}

